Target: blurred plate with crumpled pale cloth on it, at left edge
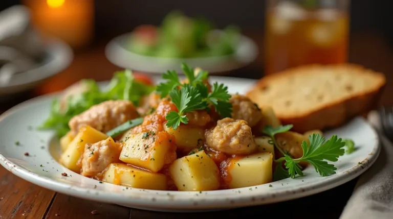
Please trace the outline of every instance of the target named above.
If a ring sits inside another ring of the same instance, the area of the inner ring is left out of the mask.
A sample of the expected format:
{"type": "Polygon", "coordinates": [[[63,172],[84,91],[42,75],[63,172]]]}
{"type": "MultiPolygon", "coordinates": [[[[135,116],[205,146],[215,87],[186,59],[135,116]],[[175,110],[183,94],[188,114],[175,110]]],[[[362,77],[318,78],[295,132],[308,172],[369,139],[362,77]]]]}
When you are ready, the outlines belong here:
{"type": "Polygon", "coordinates": [[[0,98],[30,89],[65,69],[72,60],[69,45],[42,41],[30,23],[25,6],[0,13],[0,98]]]}

